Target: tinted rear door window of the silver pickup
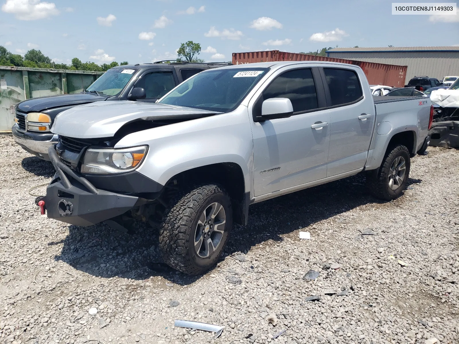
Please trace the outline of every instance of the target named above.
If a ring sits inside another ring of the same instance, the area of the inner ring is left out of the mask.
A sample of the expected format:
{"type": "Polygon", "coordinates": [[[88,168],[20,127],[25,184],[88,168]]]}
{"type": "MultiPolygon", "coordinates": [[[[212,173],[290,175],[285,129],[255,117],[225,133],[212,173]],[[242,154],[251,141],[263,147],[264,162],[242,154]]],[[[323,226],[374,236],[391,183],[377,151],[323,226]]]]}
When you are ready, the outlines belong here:
{"type": "Polygon", "coordinates": [[[362,97],[357,74],[349,69],[324,68],[331,105],[352,103],[362,97]]]}

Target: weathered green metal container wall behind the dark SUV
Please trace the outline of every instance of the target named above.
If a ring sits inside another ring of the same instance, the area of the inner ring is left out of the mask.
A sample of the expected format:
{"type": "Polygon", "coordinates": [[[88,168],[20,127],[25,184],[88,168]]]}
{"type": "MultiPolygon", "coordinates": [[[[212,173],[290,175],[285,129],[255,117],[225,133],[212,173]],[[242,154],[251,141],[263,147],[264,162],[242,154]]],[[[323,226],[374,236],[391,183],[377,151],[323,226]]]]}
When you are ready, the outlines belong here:
{"type": "Polygon", "coordinates": [[[0,66],[0,132],[10,132],[14,105],[47,95],[79,93],[103,72],[0,66]]]}

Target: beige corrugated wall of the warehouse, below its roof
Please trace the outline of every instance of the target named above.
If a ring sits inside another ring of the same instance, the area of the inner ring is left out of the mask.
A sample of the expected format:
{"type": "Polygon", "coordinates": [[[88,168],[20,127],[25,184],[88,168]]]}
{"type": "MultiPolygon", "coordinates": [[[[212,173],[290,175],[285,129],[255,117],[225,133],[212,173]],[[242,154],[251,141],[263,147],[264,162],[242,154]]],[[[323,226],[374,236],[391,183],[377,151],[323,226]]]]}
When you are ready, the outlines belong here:
{"type": "Polygon", "coordinates": [[[448,75],[459,75],[459,52],[333,52],[330,57],[340,59],[387,63],[408,66],[406,81],[415,75],[426,75],[442,80],[448,75]]]}

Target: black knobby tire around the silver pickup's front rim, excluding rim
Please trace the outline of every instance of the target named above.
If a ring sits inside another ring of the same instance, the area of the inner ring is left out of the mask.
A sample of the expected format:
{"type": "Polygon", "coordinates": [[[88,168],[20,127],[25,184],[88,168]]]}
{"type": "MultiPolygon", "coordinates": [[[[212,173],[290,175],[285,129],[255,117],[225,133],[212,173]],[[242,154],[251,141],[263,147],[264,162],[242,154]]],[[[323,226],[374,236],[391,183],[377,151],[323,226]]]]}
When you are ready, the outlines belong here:
{"type": "Polygon", "coordinates": [[[212,268],[222,254],[233,226],[231,200],[217,184],[193,186],[176,195],[166,209],[159,230],[162,259],[172,268],[197,275],[212,268]],[[207,258],[197,255],[194,246],[196,226],[202,212],[213,202],[224,207],[224,234],[215,252],[207,258]]]}

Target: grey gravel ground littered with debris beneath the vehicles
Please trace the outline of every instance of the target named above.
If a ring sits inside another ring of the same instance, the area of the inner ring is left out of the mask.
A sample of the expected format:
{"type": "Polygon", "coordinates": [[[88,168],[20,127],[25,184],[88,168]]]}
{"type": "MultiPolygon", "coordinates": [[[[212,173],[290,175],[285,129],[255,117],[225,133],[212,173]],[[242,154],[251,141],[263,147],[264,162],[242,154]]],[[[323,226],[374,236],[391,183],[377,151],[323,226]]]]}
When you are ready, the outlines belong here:
{"type": "Polygon", "coordinates": [[[28,189],[52,166],[0,137],[0,343],[457,344],[459,152],[428,151],[392,202],[358,175],[252,206],[226,257],[189,277],[161,264],[154,229],[40,216],[28,189]]]}

